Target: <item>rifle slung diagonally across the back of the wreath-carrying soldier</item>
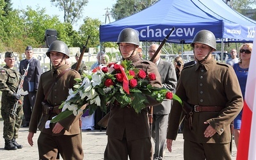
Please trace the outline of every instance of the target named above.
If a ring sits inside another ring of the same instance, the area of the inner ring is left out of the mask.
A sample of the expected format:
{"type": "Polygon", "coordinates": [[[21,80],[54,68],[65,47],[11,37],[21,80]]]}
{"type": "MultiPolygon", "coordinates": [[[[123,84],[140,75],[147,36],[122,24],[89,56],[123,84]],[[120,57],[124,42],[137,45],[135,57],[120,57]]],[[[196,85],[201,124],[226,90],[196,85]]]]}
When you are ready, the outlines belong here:
{"type": "MultiPolygon", "coordinates": [[[[157,54],[159,53],[159,51],[161,51],[163,45],[165,44],[166,40],[168,40],[169,36],[173,33],[173,31],[175,30],[175,27],[172,28],[172,30],[170,31],[170,33],[164,38],[164,40],[162,41],[162,43],[159,45],[159,47],[157,48],[156,52],[154,53],[154,55],[152,56],[152,58],[150,59],[150,61],[153,61],[157,54]]],[[[108,125],[108,119],[109,119],[109,115],[110,113],[108,113],[106,116],[104,116],[99,122],[98,125],[101,127],[106,128],[108,125]]],[[[148,116],[151,116],[153,118],[153,107],[150,107],[150,113],[148,116]],[[152,109],[151,109],[152,108],[152,109]]],[[[150,118],[150,117],[148,117],[150,118]]],[[[152,129],[152,124],[150,124],[150,129],[152,129]]]]}

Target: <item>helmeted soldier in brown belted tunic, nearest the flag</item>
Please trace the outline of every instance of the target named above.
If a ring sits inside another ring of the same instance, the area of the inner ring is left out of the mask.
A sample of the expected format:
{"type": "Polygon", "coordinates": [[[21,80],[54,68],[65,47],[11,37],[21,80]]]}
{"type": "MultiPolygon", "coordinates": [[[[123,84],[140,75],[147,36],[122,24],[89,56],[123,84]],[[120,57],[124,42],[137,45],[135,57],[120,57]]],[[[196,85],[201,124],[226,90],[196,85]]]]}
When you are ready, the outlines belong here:
{"type": "MultiPolygon", "coordinates": [[[[196,64],[183,68],[176,94],[183,100],[184,159],[231,159],[230,123],[243,107],[239,83],[230,65],[212,56],[216,38],[211,31],[196,33],[193,42],[196,64]]],[[[177,137],[182,106],[173,102],[168,121],[167,148],[177,137]]]]}

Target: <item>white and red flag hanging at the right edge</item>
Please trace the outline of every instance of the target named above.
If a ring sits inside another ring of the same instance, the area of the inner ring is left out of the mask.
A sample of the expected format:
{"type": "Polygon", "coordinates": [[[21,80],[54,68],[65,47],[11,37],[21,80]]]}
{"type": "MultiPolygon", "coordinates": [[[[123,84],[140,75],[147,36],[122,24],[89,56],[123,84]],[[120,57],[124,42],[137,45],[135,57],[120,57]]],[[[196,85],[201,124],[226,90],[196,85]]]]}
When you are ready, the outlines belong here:
{"type": "MultiPolygon", "coordinates": [[[[256,29],[256,28],[255,28],[256,29]]],[[[256,160],[256,36],[248,71],[237,160],[256,160]]]]}

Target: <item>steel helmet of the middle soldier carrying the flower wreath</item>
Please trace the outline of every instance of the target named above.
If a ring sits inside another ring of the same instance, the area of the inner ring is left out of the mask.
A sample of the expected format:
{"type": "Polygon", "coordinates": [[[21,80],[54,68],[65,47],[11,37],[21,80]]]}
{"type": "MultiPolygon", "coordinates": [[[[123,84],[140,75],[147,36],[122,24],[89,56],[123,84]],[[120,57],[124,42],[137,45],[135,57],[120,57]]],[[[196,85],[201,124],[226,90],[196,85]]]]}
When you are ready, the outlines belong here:
{"type": "Polygon", "coordinates": [[[138,33],[132,28],[123,29],[118,36],[117,44],[127,43],[140,45],[138,33]]]}

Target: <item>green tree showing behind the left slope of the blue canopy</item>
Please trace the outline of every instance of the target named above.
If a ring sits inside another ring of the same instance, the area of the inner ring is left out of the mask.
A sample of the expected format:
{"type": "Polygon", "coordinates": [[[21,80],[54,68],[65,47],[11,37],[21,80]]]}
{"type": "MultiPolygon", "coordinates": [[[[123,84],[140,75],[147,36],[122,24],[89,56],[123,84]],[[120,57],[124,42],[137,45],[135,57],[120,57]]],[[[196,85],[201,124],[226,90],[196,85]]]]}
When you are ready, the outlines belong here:
{"type": "Polygon", "coordinates": [[[111,17],[115,20],[123,19],[149,6],[151,6],[150,0],[117,0],[111,9],[111,17]]]}

